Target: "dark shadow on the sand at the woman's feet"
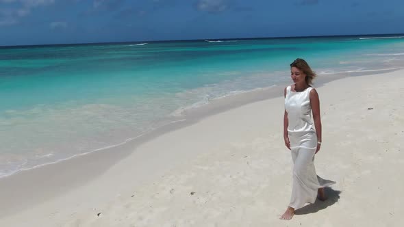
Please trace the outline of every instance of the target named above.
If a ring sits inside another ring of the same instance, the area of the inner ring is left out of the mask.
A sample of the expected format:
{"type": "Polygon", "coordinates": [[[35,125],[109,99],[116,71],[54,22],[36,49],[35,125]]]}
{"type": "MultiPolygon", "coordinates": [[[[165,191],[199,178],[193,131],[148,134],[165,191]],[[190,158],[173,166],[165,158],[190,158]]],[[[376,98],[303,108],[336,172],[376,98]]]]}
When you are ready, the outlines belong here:
{"type": "Polygon", "coordinates": [[[303,206],[301,209],[296,210],[295,215],[307,215],[308,213],[316,213],[320,210],[326,209],[328,206],[338,202],[340,199],[341,191],[336,191],[331,189],[331,187],[324,188],[325,195],[327,196],[327,200],[321,201],[316,200],[314,204],[309,204],[307,206],[303,206]]]}

